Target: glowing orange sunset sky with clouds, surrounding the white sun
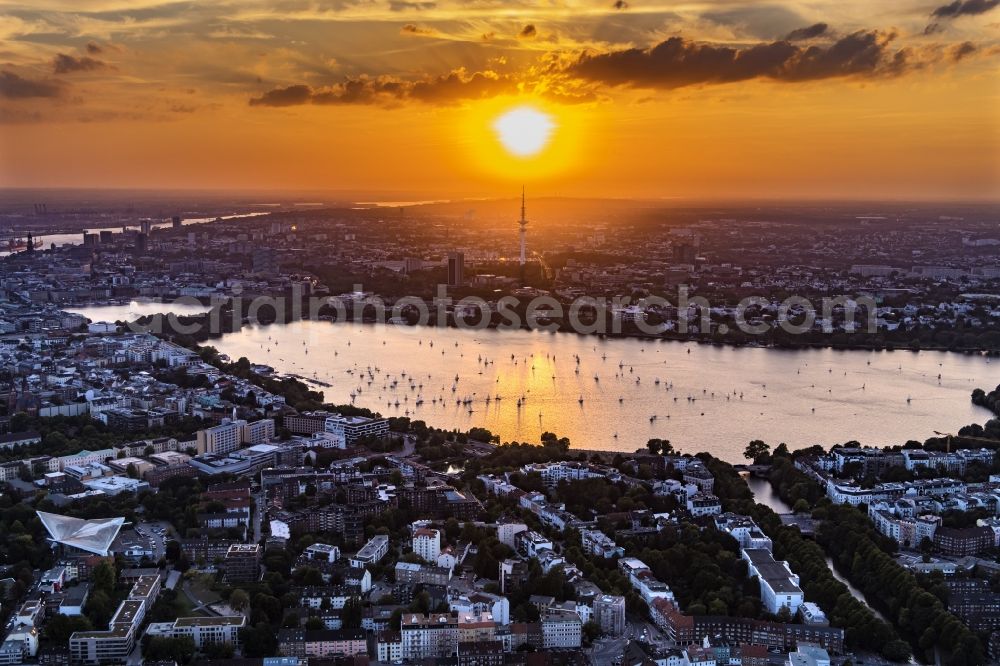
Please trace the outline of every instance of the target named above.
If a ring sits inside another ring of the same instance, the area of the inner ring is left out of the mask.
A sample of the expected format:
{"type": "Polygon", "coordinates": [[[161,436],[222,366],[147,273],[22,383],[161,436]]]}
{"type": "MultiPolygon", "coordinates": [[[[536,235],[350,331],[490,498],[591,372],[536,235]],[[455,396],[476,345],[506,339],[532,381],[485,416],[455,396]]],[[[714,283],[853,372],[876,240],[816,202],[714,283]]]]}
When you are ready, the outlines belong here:
{"type": "Polygon", "coordinates": [[[0,186],[996,199],[998,4],[0,0],[0,186]]]}

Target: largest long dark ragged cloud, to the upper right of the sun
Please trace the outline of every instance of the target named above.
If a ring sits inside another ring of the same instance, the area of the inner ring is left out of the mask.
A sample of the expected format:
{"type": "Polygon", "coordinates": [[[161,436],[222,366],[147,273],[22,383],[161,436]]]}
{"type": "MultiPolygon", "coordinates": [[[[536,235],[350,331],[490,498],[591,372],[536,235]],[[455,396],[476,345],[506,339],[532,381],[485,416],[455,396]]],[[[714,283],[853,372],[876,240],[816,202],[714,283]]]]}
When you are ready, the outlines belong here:
{"type": "Polygon", "coordinates": [[[896,75],[907,52],[893,52],[895,33],[858,31],[829,46],[788,41],[747,47],[720,46],[671,37],[651,48],[581,55],[565,72],[612,86],[679,88],[766,78],[811,81],[833,77],[896,75]]]}

